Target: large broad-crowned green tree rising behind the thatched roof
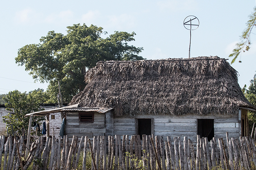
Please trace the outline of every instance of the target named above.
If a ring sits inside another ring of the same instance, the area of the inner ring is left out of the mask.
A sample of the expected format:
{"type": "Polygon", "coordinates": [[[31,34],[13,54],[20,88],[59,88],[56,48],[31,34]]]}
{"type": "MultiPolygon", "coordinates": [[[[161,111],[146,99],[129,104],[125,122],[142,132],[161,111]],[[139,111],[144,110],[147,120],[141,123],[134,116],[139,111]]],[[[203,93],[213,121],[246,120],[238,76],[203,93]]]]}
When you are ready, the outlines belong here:
{"type": "Polygon", "coordinates": [[[67,27],[67,35],[49,31],[39,44],[19,49],[16,63],[40,82],[49,82],[48,102],[56,102],[60,81],[63,102],[68,102],[84,87],[84,74],[99,61],[142,60],[138,54],[143,48],[128,45],[134,41],[134,32],[118,32],[102,38],[102,27],[74,24],[67,27]]]}

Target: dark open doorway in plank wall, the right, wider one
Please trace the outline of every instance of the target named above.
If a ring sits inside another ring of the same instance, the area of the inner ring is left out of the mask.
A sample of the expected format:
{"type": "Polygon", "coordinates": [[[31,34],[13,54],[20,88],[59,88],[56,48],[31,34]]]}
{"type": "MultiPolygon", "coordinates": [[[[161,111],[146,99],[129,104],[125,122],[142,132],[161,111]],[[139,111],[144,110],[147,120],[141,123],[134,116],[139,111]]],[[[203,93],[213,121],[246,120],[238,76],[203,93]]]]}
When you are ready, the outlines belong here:
{"type": "Polygon", "coordinates": [[[207,137],[210,142],[214,137],[214,119],[197,119],[197,135],[207,137]]]}

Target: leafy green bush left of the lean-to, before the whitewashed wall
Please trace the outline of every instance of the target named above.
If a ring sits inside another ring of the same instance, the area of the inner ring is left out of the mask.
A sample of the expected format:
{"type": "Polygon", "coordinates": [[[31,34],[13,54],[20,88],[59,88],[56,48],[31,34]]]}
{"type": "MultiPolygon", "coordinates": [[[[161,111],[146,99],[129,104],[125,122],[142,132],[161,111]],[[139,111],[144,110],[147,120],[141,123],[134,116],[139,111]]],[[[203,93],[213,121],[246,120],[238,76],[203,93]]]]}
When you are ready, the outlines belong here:
{"type": "MultiPolygon", "coordinates": [[[[27,135],[29,117],[25,117],[25,115],[42,110],[39,107],[39,104],[42,102],[42,100],[39,99],[43,99],[41,94],[42,91],[26,94],[26,92],[21,93],[18,90],[14,90],[3,98],[6,102],[6,110],[12,112],[3,116],[3,121],[8,128],[8,133],[12,134],[11,125],[13,125],[15,134],[22,135],[22,129],[24,129],[25,135],[27,135]]],[[[32,121],[36,123],[40,123],[43,120],[45,120],[43,116],[34,116],[32,119],[32,121]]]]}

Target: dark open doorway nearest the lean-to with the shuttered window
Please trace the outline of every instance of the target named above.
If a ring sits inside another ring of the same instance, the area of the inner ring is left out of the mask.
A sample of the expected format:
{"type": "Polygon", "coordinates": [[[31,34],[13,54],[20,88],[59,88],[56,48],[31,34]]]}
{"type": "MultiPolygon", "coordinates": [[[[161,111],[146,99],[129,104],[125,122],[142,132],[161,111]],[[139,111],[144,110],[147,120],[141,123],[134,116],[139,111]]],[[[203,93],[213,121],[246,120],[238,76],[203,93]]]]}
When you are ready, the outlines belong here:
{"type": "Polygon", "coordinates": [[[138,119],[138,135],[151,135],[151,119],[138,119]]]}

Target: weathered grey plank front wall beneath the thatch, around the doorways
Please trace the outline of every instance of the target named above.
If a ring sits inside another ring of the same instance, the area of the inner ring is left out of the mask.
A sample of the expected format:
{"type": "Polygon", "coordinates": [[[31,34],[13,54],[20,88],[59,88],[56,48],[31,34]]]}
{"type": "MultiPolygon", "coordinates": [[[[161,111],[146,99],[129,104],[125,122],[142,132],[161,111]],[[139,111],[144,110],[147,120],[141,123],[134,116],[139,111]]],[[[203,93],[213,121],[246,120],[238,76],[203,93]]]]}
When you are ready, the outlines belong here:
{"type": "MultiPolygon", "coordinates": [[[[226,132],[230,137],[239,137],[238,114],[236,115],[137,115],[134,118],[113,118],[111,114],[95,113],[93,123],[79,123],[78,113],[67,114],[66,133],[68,136],[106,136],[106,135],[137,135],[137,119],[153,118],[156,136],[179,137],[187,136],[196,142],[197,119],[214,119],[214,136],[226,140],[226,132]]],[[[71,140],[71,139],[70,139],[71,140]]]]}

